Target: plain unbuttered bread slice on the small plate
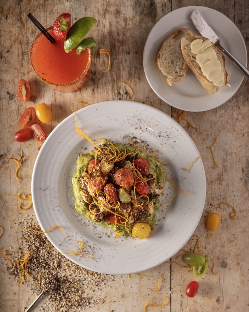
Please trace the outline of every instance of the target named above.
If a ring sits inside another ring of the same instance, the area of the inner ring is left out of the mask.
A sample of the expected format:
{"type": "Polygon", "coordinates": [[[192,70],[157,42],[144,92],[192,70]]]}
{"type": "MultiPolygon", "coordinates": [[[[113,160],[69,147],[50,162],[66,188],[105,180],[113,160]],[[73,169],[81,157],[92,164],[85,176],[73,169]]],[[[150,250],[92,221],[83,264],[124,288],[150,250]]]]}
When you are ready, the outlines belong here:
{"type": "Polygon", "coordinates": [[[186,28],[178,29],[164,40],[156,56],[157,66],[167,76],[166,81],[170,86],[180,82],[188,71],[181,52],[181,38],[185,36],[192,37],[193,33],[186,28]]]}

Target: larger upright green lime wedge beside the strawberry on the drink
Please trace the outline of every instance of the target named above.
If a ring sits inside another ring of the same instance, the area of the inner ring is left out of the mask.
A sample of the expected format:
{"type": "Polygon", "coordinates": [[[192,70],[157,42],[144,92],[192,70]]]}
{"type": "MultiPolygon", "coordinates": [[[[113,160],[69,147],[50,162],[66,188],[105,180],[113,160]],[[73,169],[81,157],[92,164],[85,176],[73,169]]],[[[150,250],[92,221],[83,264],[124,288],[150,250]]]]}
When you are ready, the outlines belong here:
{"type": "Polygon", "coordinates": [[[88,32],[95,26],[97,20],[94,17],[82,17],[75,22],[67,33],[64,42],[65,52],[70,52],[86,37],[88,32]]]}

